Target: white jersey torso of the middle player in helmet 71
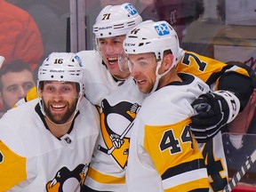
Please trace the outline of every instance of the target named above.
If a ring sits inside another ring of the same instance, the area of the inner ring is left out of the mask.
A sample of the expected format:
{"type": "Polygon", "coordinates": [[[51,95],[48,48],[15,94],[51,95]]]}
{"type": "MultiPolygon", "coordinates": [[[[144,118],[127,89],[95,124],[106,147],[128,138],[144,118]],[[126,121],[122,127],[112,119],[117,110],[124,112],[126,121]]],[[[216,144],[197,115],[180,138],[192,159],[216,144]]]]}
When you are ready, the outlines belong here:
{"type": "Polygon", "coordinates": [[[144,95],[132,77],[118,81],[102,64],[98,52],[77,55],[85,68],[85,95],[100,108],[100,137],[92,156],[85,184],[95,190],[125,191],[130,132],[144,95]],[[115,148],[113,142],[120,148],[115,148]]]}

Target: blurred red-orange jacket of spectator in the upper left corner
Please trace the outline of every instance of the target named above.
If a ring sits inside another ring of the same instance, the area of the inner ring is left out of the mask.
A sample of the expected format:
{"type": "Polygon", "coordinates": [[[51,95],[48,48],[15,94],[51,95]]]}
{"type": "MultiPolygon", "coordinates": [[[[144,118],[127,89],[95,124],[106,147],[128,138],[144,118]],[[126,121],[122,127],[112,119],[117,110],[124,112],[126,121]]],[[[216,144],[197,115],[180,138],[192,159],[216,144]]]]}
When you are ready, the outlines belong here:
{"type": "Polygon", "coordinates": [[[36,22],[19,7],[0,0],[0,54],[5,62],[22,60],[31,70],[44,54],[44,47],[36,22]]]}

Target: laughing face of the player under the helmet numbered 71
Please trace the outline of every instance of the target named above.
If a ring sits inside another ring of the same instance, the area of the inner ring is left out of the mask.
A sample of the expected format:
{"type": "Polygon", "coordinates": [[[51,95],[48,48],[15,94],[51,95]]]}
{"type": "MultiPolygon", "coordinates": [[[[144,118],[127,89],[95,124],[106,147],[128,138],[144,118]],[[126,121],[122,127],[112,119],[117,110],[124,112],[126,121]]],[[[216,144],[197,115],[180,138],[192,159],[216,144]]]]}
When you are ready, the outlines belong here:
{"type": "Polygon", "coordinates": [[[130,76],[129,73],[122,72],[118,66],[118,55],[124,52],[124,38],[125,36],[113,36],[97,39],[100,55],[107,65],[110,74],[117,79],[124,79],[130,76]]]}

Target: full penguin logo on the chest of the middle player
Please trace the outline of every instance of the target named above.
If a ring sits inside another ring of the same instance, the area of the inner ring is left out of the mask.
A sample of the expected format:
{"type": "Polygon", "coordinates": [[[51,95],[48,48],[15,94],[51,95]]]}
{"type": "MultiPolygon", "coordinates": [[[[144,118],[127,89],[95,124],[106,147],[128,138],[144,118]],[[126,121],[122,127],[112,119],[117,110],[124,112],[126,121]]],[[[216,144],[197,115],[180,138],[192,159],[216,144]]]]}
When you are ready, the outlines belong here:
{"type": "Polygon", "coordinates": [[[127,164],[130,136],[133,120],[139,112],[138,103],[122,101],[111,106],[108,100],[102,100],[100,106],[101,134],[106,147],[98,146],[98,149],[113,156],[121,168],[127,164]],[[123,122],[117,122],[116,118],[123,122]],[[114,123],[115,122],[115,123],[114,123]]]}

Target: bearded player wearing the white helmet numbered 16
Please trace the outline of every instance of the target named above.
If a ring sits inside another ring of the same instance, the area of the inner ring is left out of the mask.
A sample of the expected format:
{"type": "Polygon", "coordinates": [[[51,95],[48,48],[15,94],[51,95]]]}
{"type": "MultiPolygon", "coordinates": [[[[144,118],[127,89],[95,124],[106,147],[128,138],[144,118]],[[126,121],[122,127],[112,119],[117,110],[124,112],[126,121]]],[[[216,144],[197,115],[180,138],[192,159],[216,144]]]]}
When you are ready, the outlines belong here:
{"type": "Polygon", "coordinates": [[[0,190],[80,191],[100,121],[84,98],[84,68],[74,53],[53,52],[38,71],[38,100],[0,120],[0,190]]]}

